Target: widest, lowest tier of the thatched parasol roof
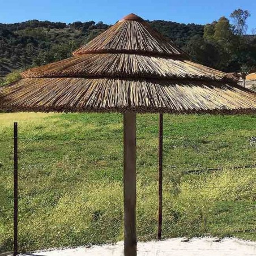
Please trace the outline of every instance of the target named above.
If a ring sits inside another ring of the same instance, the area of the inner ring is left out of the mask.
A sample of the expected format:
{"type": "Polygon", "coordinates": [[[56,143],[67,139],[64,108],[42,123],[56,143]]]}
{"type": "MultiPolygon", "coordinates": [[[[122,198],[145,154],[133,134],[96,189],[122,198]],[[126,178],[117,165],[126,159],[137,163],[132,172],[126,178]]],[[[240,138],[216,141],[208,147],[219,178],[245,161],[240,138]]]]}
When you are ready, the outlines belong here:
{"type": "Polygon", "coordinates": [[[26,78],[0,87],[0,109],[41,112],[248,113],[256,93],[223,82],[26,78]]]}

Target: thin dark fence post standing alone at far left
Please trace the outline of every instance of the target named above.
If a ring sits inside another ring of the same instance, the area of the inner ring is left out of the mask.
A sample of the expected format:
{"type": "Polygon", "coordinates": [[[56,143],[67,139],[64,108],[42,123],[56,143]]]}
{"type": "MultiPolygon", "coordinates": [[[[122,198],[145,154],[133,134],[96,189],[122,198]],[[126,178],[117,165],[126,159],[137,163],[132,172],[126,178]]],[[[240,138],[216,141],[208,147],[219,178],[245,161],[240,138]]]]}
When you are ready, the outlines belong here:
{"type": "Polygon", "coordinates": [[[18,254],[18,123],[14,122],[14,256],[18,254]]]}

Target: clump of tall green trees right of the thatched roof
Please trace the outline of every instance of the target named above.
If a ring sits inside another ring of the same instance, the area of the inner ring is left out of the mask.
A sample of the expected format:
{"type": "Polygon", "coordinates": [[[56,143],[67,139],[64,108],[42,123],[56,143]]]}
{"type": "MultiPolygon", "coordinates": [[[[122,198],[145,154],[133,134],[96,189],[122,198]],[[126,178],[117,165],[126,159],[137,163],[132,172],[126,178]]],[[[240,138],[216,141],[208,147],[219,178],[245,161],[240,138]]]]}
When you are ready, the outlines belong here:
{"type": "Polygon", "coordinates": [[[256,66],[256,37],[246,35],[249,11],[234,10],[231,22],[221,17],[204,26],[203,37],[191,37],[186,52],[196,62],[225,72],[242,71],[243,66],[256,66]]]}

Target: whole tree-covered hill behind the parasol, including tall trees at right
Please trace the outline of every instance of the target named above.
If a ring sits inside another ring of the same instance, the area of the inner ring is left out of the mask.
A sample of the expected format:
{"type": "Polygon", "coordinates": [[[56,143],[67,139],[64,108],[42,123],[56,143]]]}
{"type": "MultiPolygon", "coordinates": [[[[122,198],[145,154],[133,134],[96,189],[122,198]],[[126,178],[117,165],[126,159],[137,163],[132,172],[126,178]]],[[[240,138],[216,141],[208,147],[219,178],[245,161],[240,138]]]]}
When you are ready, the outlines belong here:
{"type": "MultiPolygon", "coordinates": [[[[194,61],[233,72],[256,66],[256,37],[246,35],[249,16],[248,11],[238,9],[231,14],[231,22],[225,17],[206,25],[148,22],[194,61]]],[[[109,27],[94,21],[0,24],[0,76],[70,57],[74,49],[109,27]]]]}

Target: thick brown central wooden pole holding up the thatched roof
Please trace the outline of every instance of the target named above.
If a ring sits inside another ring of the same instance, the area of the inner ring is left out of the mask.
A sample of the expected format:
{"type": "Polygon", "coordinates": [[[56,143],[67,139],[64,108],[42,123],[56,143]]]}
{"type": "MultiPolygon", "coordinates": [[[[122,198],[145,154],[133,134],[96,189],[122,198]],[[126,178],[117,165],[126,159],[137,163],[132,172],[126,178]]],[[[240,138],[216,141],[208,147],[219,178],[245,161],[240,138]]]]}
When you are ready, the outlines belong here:
{"type": "Polygon", "coordinates": [[[123,114],[125,256],[136,256],[136,114],[123,114]]]}

